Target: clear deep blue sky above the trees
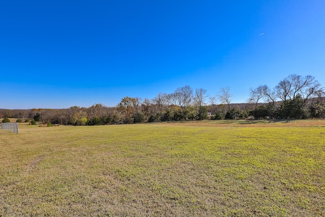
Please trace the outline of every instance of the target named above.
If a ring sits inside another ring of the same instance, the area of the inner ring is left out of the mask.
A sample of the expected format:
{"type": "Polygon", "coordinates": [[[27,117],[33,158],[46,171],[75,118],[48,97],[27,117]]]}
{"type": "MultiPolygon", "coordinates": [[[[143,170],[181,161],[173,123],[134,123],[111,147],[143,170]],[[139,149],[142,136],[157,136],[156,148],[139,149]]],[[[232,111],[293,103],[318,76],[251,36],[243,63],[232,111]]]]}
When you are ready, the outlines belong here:
{"type": "MultiPolygon", "coordinates": [[[[289,74],[325,86],[325,1],[0,1],[0,108],[210,96],[289,74]]],[[[219,103],[219,102],[217,102],[219,103]]]]}

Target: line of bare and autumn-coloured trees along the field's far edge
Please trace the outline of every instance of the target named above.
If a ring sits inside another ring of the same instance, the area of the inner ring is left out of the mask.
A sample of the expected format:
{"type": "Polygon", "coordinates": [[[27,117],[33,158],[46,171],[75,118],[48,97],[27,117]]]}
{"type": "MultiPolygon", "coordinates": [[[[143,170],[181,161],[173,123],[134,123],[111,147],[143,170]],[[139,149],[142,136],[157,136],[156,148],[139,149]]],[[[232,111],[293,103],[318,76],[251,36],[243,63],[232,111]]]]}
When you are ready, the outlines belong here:
{"type": "Polygon", "coordinates": [[[246,103],[232,104],[230,87],[215,96],[203,88],[185,85],[155,98],[124,97],[116,107],[95,104],[68,109],[0,109],[4,117],[60,125],[107,125],[156,121],[203,119],[304,119],[325,118],[324,89],[313,76],[292,74],[275,87],[259,85],[250,89],[246,103]]]}

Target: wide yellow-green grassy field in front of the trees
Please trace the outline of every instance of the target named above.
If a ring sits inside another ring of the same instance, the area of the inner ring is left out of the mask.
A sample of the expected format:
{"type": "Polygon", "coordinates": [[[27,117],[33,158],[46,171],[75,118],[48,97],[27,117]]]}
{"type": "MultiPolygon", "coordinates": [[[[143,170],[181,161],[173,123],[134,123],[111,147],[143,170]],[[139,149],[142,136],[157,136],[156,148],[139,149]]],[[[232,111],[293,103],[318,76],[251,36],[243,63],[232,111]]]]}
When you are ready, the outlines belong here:
{"type": "Polygon", "coordinates": [[[325,216],[325,121],[0,131],[0,216],[325,216]]]}

